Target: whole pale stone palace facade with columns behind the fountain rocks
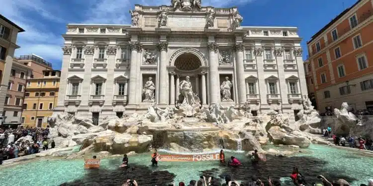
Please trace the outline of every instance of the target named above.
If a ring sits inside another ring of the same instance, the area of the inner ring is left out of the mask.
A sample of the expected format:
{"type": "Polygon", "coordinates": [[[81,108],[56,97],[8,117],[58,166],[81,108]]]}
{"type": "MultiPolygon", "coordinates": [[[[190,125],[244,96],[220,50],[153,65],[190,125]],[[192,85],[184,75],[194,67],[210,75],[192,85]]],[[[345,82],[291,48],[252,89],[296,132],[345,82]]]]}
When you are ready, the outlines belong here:
{"type": "Polygon", "coordinates": [[[250,102],[294,114],[307,95],[296,27],[245,27],[237,7],[135,5],[131,25],[68,24],[56,113],[101,120],[173,107],[187,80],[202,107],[250,102]]]}

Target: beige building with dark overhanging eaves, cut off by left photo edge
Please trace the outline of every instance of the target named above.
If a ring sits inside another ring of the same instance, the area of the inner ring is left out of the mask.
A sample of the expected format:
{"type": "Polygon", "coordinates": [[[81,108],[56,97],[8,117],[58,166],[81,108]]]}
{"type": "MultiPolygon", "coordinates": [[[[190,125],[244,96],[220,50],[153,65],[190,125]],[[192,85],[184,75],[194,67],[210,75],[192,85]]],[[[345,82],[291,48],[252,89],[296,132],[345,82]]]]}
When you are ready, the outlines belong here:
{"type": "MultiPolygon", "coordinates": [[[[11,22],[0,14],[0,116],[3,116],[6,94],[8,93],[8,82],[13,63],[13,55],[16,45],[17,34],[24,32],[18,25],[11,22]]],[[[0,117],[0,124],[3,118],[0,117]]]]}

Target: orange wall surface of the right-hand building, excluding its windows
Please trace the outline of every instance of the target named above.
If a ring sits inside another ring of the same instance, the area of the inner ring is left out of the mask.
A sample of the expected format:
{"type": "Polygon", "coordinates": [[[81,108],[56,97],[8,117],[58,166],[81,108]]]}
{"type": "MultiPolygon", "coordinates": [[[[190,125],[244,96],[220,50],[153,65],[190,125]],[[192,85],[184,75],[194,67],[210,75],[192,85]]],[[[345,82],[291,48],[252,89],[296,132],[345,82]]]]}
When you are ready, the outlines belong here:
{"type": "MultiPolygon", "coordinates": [[[[342,101],[355,105],[355,109],[366,109],[366,101],[372,101],[372,90],[362,91],[360,82],[369,80],[373,74],[373,3],[371,0],[361,0],[347,13],[342,15],[332,25],[326,28],[319,36],[308,43],[310,52],[313,85],[307,81],[308,86],[313,86],[316,92],[318,109],[325,112],[325,107],[339,108],[342,101]],[[355,15],[358,25],[351,27],[350,17],[355,15]],[[333,41],[332,31],[336,29],[338,39],[333,41]],[[354,37],[360,36],[362,47],[354,47],[354,37]],[[321,50],[316,51],[316,44],[320,42],[321,50]],[[336,58],[335,49],[339,48],[341,57],[336,58]],[[359,69],[358,57],[365,56],[367,68],[359,69]],[[318,59],[322,58],[323,65],[319,66],[318,59]],[[339,75],[338,66],[343,66],[344,76],[339,75]],[[321,82],[321,74],[326,75],[326,82],[321,82]],[[351,93],[340,95],[339,88],[348,86],[351,93]],[[330,91],[330,98],[325,98],[324,91],[330,91]],[[359,99],[358,99],[359,98],[359,99]]],[[[309,78],[312,78],[309,77],[309,78]]],[[[311,88],[309,88],[311,89],[311,88]]]]}

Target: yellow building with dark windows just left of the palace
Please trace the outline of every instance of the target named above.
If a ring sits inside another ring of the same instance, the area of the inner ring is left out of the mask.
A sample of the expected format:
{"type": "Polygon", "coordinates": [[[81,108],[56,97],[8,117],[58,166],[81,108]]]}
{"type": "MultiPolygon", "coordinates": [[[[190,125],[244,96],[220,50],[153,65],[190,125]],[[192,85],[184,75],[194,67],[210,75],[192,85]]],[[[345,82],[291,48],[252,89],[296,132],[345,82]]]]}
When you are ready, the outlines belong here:
{"type": "Polygon", "coordinates": [[[42,78],[27,80],[21,118],[23,126],[47,126],[57,104],[60,76],[59,70],[43,70],[42,78]]]}

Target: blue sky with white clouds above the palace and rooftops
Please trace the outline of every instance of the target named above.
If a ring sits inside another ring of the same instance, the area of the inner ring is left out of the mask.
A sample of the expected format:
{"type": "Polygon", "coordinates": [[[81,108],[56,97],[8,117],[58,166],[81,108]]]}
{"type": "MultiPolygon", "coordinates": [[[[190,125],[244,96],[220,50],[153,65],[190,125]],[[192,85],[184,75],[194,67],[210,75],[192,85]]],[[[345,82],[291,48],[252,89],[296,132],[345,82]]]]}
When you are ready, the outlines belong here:
{"type": "MultiPolygon", "coordinates": [[[[202,0],[202,5],[238,6],[243,26],[295,26],[306,41],[357,0],[202,0]]],[[[171,4],[171,0],[0,0],[0,13],[21,26],[15,55],[36,54],[61,68],[68,23],[129,24],[134,4],[171,4]]]]}

